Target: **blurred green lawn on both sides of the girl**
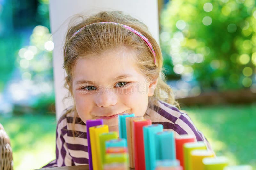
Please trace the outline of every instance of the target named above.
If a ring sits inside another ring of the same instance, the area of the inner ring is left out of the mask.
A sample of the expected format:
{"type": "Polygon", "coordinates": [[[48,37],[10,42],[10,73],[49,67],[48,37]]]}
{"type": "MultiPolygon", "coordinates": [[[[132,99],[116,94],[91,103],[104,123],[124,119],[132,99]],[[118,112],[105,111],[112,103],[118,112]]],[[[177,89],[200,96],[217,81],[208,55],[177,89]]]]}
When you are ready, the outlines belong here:
{"type": "MultiPolygon", "coordinates": [[[[204,133],[217,156],[227,156],[232,165],[256,167],[255,105],[182,109],[204,133]]],[[[0,115],[0,122],[11,138],[15,170],[38,169],[55,159],[55,115],[0,115]]]]}

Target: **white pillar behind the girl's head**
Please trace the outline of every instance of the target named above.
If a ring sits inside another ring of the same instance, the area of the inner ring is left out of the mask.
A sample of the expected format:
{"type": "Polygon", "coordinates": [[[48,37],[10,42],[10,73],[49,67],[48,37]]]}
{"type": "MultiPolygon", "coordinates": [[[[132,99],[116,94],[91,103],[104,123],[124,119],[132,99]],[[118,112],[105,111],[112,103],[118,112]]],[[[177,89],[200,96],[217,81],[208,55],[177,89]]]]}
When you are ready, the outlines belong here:
{"type": "Polygon", "coordinates": [[[50,0],[50,25],[53,34],[53,74],[57,120],[62,111],[72,105],[71,100],[62,103],[68,95],[64,88],[65,70],[63,66],[63,44],[68,28],[66,21],[70,16],[86,12],[95,14],[99,11],[119,10],[144,22],[157,42],[159,42],[157,0],[50,0]],[[66,21],[66,22],[65,22],[66,21]]]}

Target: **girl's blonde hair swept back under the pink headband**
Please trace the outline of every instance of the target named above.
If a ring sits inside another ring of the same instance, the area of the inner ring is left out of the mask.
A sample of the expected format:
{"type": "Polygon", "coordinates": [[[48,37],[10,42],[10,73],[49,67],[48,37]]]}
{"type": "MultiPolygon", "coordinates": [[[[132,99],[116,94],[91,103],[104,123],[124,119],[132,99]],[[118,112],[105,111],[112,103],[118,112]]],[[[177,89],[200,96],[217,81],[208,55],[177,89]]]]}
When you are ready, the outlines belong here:
{"type": "MultiPolygon", "coordinates": [[[[135,62],[140,72],[146,77],[149,77],[150,80],[158,79],[154,95],[148,98],[148,107],[154,108],[154,104],[157,103],[157,100],[162,100],[179,107],[179,104],[174,99],[171,87],[166,84],[166,77],[162,68],[163,57],[161,49],[144,23],[130,15],[124,14],[122,11],[102,11],[88,18],[83,15],[77,15],[75,16],[75,21],[77,18],[81,20],[75,25],[69,25],[64,44],[63,68],[67,73],[64,86],[69,91],[69,96],[67,97],[73,97],[73,68],[76,61],[81,56],[85,56],[86,54],[94,54],[93,56],[100,55],[106,51],[120,49],[125,46],[134,50],[136,53],[135,62]],[[138,35],[120,25],[112,23],[92,24],[106,21],[130,26],[142,33],[152,44],[156,52],[156,65],[154,64],[154,57],[150,48],[138,35]],[[75,36],[72,36],[85,25],[88,25],[88,27],[82,29],[75,36]]],[[[72,20],[74,20],[74,18],[72,20]]],[[[73,119],[73,124],[75,124],[75,119],[78,117],[75,104],[72,110],[75,113],[73,119]]]]}

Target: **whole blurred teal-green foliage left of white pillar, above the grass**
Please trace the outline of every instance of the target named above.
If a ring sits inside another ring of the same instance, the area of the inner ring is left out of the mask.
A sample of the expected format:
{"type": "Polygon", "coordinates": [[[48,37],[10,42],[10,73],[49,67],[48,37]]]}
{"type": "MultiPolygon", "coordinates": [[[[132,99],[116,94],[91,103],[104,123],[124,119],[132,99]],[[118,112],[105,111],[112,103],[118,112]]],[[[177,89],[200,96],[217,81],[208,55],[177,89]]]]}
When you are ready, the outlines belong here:
{"type": "Polygon", "coordinates": [[[0,1],[0,96],[14,114],[22,106],[36,113],[54,111],[48,5],[49,0],[0,1]]]}

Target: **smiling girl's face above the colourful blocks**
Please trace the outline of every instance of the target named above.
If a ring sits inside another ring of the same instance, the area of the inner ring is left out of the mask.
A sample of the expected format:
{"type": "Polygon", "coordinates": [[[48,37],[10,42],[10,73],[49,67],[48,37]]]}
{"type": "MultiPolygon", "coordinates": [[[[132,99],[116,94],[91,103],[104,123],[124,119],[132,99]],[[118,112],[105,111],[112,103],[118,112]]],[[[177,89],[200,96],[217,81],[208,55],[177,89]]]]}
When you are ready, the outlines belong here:
{"type": "Polygon", "coordinates": [[[139,72],[132,60],[134,55],[124,48],[78,59],[72,90],[77,113],[84,122],[103,119],[109,131],[118,132],[118,114],[145,114],[157,80],[149,82],[139,72]]]}

